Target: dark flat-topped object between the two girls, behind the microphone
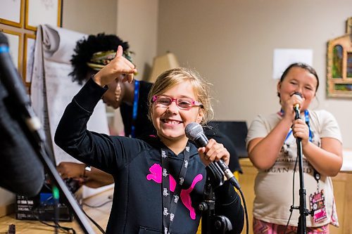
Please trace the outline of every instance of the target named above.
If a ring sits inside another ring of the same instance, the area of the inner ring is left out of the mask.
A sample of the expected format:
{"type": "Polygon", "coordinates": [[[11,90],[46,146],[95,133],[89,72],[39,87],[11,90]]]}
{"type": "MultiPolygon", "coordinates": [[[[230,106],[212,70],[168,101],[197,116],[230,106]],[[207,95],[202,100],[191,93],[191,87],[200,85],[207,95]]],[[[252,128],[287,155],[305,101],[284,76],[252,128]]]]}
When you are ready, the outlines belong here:
{"type": "Polygon", "coordinates": [[[232,143],[239,157],[248,157],[246,149],[247,124],[244,121],[211,121],[209,125],[225,134],[232,143]]]}

